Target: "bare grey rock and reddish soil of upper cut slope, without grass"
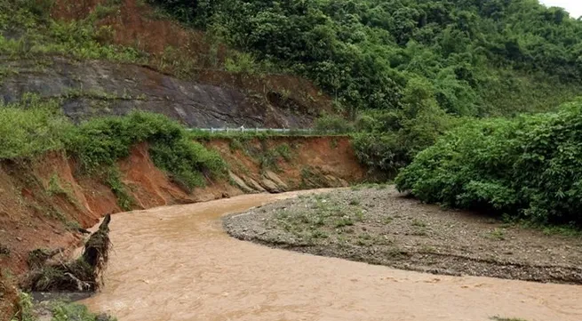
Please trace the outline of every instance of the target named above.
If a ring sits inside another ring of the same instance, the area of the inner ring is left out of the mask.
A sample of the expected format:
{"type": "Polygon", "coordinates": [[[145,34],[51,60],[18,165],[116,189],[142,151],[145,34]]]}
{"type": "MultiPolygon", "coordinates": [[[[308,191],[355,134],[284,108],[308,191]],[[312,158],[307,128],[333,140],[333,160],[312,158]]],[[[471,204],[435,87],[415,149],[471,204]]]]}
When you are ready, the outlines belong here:
{"type": "Polygon", "coordinates": [[[52,17],[83,20],[98,5],[115,9],[95,22],[108,30],[100,42],[135,48],[147,60],[139,63],[146,65],[0,56],[12,70],[0,80],[5,101],[35,92],[63,99],[65,114],[75,120],[140,109],[191,127],[303,128],[332,111],[331,98],[306,79],[228,72],[225,60],[234,51],[160,16],[144,2],[58,0],[52,17]]]}

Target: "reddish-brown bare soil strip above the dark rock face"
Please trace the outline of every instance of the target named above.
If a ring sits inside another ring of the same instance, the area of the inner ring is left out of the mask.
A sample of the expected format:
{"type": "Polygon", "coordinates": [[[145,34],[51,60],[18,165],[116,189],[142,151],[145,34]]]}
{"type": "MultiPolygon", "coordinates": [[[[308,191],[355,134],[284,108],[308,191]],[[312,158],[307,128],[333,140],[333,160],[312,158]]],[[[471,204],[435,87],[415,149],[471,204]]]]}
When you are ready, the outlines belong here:
{"type": "MultiPolygon", "coordinates": [[[[105,0],[57,0],[52,17],[82,20],[98,4],[104,3],[105,0]]],[[[102,39],[103,42],[147,52],[148,65],[156,70],[180,75],[191,68],[193,72],[189,72],[188,77],[193,80],[202,84],[235,87],[249,94],[249,99],[259,105],[268,102],[275,107],[293,108],[299,113],[315,115],[332,110],[331,97],[307,79],[291,75],[247,75],[225,71],[224,61],[234,50],[224,44],[215,44],[218,45],[218,52],[212,52],[212,41],[203,31],[185,28],[173,20],[156,16],[155,10],[143,2],[122,0],[118,12],[98,21],[97,25],[113,30],[113,37],[102,39]]]]}

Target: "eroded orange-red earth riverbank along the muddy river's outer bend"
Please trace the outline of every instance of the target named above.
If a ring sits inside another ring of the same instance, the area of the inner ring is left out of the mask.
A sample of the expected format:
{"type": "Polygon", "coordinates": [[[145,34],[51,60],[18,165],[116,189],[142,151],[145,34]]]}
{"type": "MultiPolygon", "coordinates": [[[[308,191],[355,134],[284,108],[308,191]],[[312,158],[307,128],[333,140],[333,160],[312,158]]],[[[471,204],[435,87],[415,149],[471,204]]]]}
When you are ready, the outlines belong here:
{"type": "MultiPolygon", "coordinates": [[[[206,188],[192,193],[180,189],[155,167],[147,144],[132,148],[131,155],[118,162],[132,208],[345,186],[363,179],[364,171],[347,137],[282,137],[239,143],[240,149],[232,140],[204,142],[227,161],[230,177],[208,181],[206,188]]],[[[90,227],[106,213],[117,212],[122,209],[104,180],[79,173],[75,161],[63,153],[5,160],[0,163],[0,267],[18,276],[28,269],[30,251],[76,245],[83,239],[79,227],[90,227]]]]}

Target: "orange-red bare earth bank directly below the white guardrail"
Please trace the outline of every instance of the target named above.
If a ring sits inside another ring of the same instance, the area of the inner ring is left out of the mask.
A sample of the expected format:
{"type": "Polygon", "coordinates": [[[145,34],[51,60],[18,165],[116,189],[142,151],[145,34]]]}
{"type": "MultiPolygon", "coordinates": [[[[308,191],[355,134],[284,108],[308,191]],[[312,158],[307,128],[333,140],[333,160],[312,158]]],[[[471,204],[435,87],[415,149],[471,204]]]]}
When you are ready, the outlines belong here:
{"type": "Polygon", "coordinates": [[[261,181],[267,171],[274,172],[289,189],[343,187],[363,181],[366,171],[354,154],[348,137],[273,137],[269,140],[222,139],[206,145],[219,151],[230,170],[243,178],[261,181]],[[235,148],[233,140],[241,147],[235,148]],[[286,145],[290,160],[276,157],[276,165],[261,167],[269,150],[286,145]]]}

